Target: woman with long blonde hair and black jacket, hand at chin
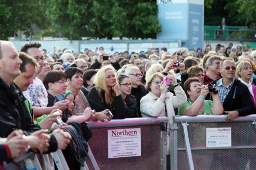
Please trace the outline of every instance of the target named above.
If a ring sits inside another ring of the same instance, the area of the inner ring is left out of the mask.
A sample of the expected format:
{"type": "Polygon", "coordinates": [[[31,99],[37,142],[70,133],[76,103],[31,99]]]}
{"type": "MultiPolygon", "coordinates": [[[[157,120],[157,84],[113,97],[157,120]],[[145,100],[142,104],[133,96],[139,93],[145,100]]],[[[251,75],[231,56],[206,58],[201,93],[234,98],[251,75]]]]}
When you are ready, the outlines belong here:
{"type": "Polygon", "coordinates": [[[109,109],[113,119],[124,119],[127,112],[115,75],[115,69],[110,65],[99,69],[94,80],[95,86],[88,93],[87,100],[96,112],[109,109]]]}

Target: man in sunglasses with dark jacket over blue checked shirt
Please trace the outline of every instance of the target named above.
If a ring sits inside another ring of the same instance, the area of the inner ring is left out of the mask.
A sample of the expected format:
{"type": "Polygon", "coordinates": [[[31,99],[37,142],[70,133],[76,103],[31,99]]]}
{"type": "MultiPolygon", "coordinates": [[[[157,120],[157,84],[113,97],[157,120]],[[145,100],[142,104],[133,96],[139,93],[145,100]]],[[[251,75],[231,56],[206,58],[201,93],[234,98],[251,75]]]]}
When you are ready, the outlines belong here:
{"type": "Polygon", "coordinates": [[[235,72],[234,60],[226,58],[221,62],[222,79],[211,83],[216,84],[218,88],[218,96],[224,108],[223,114],[228,114],[226,121],[256,112],[247,86],[234,78],[235,72]]]}

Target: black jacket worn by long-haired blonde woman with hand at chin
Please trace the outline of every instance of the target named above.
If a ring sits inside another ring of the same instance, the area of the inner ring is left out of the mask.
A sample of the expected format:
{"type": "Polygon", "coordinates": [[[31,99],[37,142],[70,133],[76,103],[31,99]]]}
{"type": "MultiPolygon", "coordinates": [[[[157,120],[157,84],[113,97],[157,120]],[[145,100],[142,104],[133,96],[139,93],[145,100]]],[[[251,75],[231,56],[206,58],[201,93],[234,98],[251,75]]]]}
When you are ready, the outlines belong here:
{"type": "Polygon", "coordinates": [[[95,87],[93,87],[87,95],[87,100],[91,106],[91,109],[95,109],[96,112],[104,111],[109,109],[113,114],[113,119],[124,119],[127,116],[127,111],[125,109],[125,103],[122,95],[116,96],[114,98],[113,105],[109,105],[105,101],[105,91],[102,90],[101,97],[95,87]]]}

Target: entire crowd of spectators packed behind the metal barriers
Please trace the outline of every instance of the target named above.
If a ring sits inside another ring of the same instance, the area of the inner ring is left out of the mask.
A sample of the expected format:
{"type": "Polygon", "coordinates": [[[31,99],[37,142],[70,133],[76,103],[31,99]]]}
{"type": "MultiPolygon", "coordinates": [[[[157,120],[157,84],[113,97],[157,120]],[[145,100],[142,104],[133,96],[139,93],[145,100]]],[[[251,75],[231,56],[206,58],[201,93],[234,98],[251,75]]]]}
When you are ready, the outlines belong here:
{"type": "Polygon", "coordinates": [[[246,44],[130,54],[40,48],[29,43],[17,52],[0,41],[0,162],[27,149],[42,157],[61,149],[80,169],[88,121],[222,114],[233,121],[256,113],[256,50],[246,44]]]}

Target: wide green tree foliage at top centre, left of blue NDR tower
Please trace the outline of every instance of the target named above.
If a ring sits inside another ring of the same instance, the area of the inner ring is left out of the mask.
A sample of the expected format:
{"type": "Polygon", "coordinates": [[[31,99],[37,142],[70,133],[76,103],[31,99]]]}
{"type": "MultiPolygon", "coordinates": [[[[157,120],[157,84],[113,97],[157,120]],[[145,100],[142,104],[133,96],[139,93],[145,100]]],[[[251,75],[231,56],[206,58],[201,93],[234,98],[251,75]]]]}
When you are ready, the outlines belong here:
{"type": "Polygon", "coordinates": [[[155,38],[161,31],[156,1],[47,0],[52,28],[69,39],[155,38]]]}

